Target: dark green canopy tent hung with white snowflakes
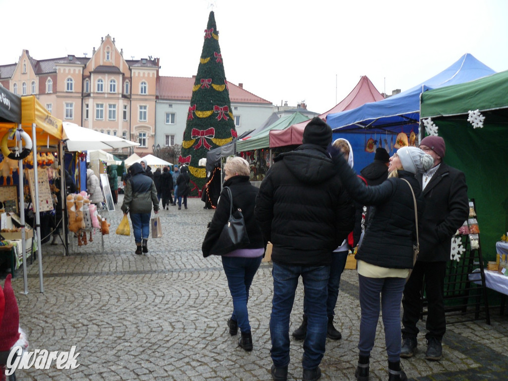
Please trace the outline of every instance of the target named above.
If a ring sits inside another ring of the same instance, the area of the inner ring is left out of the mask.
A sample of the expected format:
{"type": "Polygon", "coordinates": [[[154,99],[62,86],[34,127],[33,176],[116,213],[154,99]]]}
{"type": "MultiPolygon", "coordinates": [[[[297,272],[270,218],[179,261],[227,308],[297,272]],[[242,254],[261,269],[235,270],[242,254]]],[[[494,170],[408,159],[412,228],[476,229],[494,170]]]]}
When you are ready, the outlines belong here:
{"type": "Polygon", "coordinates": [[[508,231],[508,176],[504,172],[508,164],[508,71],[425,91],[420,107],[422,127],[424,121],[431,124],[431,118],[437,135],[446,142],[444,162],[466,175],[468,196],[477,206],[484,259],[494,260],[495,242],[508,231]],[[482,126],[468,121],[475,110],[485,117],[482,126]]]}

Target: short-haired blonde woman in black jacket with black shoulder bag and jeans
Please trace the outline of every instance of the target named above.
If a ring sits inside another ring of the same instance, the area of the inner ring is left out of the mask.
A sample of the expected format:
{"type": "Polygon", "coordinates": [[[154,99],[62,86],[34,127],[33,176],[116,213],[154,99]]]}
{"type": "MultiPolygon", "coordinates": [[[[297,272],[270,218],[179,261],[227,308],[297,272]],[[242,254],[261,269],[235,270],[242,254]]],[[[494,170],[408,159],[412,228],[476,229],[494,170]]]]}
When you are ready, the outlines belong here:
{"type": "MultiPolygon", "coordinates": [[[[250,166],[244,158],[228,157],[224,169],[226,172],[224,186],[229,186],[231,189],[233,208],[239,208],[242,211],[245,229],[249,237],[248,245],[221,257],[233,298],[233,313],[228,320],[228,327],[232,336],[238,333],[238,327],[240,327],[241,337],[238,340],[238,345],[249,352],[252,351],[252,334],[247,310],[249,289],[261,264],[266,246],[261,228],[254,217],[254,206],[259,189],[249,182],[250,166]]],[[[230,205],[231,199],[228,190],[223,189],[210,228],[201,246],[205,258],[213,254],[210,249],[220,236],[224,225],[228,223],[230,205]]]]}

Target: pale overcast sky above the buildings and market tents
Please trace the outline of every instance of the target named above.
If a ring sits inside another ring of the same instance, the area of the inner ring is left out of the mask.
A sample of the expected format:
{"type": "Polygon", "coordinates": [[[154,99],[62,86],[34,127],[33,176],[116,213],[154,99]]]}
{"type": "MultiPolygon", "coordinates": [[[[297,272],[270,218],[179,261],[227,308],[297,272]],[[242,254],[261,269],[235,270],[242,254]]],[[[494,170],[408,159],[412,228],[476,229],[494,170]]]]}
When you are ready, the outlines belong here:
{"type": "Polygon", "coordinates": [[[402,91],[471,53],[508,70],[506,0],[0,0],[0,65],[90,57],[110,35],[127,59],[160,57],[163,76],[196,74],[215,13],[226,77],[276,105],[324,113],[366,75],[402,91]],[[211,6],[213,5],[213,7],[211,6]],[[143,7],[143,8],[140,8],[143,7]]]}

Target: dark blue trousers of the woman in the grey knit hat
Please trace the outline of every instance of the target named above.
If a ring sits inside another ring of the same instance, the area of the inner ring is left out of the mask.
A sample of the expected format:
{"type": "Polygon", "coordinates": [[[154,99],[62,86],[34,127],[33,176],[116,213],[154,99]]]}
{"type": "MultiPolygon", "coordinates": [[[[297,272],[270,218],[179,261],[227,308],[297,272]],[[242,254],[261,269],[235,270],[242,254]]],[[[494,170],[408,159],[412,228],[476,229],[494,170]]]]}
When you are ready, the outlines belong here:
{"type": "Polygon", "coordinates": [[[400,360],[400,301],[405,278],[368,278],[358,275],[360,283],[360,355],[370,356],[379,320],[379,295],[385,325],[385,344],[388,361],[400,360]]]}

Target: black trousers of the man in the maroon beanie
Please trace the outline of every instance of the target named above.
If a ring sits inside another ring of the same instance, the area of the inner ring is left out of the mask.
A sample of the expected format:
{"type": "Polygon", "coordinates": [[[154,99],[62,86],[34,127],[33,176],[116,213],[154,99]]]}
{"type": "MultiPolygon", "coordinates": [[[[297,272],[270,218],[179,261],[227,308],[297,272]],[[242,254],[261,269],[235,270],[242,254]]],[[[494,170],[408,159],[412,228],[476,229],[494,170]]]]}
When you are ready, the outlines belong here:
{"type": "Polygon", "coordinates": [[[420,332],[416,324],[420,319],[422,309],[422,285],[425,282],[425,295],[428,301],[427,334],[425,337],[435,337],[439,341],[446,332],[446,317],[444,316],[443,288],[446,262],[417,261],[411,276],[404,288],[402,298],[402,337],[416,337],[420,332]]]}

